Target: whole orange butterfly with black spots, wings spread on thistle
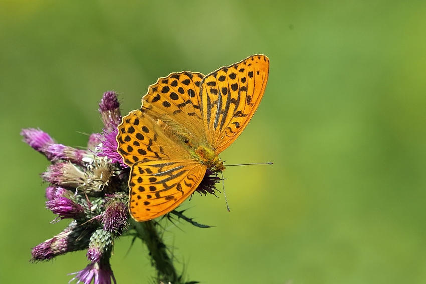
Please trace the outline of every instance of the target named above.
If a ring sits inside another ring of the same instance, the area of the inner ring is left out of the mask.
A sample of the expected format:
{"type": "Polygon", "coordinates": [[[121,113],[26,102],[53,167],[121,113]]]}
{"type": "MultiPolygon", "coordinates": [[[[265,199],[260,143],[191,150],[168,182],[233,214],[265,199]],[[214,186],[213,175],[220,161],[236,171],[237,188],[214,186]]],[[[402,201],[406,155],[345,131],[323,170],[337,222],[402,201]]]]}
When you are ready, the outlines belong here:
{"type": "Polygon", "coordinates": [[[160,217],[197,189],[218,154],[247,126],[265,92],[269,59],[252,55],[208,75],[159,78],[142,106],[118,126],[117,151],[130,166],[129,210],[139,222],[160,217]]]}

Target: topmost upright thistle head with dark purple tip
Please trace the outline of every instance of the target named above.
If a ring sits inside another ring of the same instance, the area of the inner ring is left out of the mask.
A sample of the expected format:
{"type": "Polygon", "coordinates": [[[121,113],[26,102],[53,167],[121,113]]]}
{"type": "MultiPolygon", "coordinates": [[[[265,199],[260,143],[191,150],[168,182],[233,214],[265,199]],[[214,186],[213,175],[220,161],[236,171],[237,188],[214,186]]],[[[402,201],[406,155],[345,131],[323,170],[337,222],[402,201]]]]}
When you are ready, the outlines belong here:
{"type": "Polygon", "coordinates": [[[121,112],[116,92],[108,91],[104,93],[99,103],[99,112],[104,122],[105,129],[111,130],[117,128],[121,122],[121,112]]]}

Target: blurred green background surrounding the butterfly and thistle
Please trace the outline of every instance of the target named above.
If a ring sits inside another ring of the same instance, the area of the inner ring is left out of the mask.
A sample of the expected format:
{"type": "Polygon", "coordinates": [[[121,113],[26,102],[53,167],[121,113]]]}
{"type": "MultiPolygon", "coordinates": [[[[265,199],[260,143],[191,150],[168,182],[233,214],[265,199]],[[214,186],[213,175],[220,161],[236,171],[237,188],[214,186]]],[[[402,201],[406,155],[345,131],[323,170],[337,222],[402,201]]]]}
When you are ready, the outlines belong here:
{"type": "MultiPolygon", "coordinates": [[[[57,234],[21,142],[40,127],[84,146],[102,93],[122,112],[170,72],[204,74],[251,54],[271,61],[265,97],[221,154],[222,195],[168,227],[202,283],[426,283],[426,2],[0,1],[0,282],[67,283],[85,252],[29,263],[57,234]]],[[[147,283],[146,248],[117,241],[118,283],[147,283]]]]}

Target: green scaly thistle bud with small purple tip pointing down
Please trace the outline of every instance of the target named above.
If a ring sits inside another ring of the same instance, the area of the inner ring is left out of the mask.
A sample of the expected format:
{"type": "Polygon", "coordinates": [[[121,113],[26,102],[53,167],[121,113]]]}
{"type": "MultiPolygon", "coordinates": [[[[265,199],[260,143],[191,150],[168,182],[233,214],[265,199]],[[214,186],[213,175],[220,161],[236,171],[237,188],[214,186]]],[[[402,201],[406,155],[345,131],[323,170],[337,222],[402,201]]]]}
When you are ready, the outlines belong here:
{"type": "Polygon", "coordinates": [[[96,230],[90,237],[87,259],[93,262],[100,262],[101,258],[109,259],[112,250],[111,234],[102,229],[96,230]]]}

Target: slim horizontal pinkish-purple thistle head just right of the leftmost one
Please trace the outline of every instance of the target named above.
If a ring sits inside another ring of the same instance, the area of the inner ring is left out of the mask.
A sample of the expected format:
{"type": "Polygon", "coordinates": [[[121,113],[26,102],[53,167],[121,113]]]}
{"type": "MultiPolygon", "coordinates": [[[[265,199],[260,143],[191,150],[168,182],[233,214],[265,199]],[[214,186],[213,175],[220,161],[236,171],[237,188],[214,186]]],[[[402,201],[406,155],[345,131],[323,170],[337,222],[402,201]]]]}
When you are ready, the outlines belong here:
{"type": "Polygon", "coordinates": [[[62,144],[50,144],[45,147],[43,153],[54,162],[57,160],[68,160],[73,163],[81,164],[83,158],[93,157],[93,154],[85,150],[76,149],[62,144]]]}

